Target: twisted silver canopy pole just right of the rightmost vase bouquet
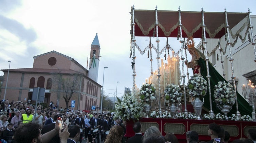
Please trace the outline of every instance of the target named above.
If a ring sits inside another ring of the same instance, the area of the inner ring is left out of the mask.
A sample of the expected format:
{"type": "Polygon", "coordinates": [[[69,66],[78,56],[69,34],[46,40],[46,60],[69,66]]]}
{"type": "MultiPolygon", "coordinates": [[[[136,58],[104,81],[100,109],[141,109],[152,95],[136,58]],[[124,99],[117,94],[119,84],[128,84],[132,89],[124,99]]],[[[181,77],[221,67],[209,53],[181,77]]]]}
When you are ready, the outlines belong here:
{"type": "Polygon", "coordinates": [[[241,114],[238,111],[238,103],[237,103],[237,95],[236,95],[236,77],[234,74],[234,67],[233,67],[233,61],[234,59],[232,58],[232,53],[231,53],[231,42],[230,42],[230,38],[229,38],[229,25],[227,23],[227,10],[225,8],[225,18],[226,18],[226,28],[227,28],[227,44],[228,44],[228,48],[229,48],[229,53],[230,53],[230,59],[229,61],[231,62],[231,70],[232,70],[232,77],[231,79],[233,80],[233,84],[234,84],[234,88],[235,88],[235,98],[236,98],[236,115],[237,117],[239,117],[239,119],[241,118],[241,114]]]}

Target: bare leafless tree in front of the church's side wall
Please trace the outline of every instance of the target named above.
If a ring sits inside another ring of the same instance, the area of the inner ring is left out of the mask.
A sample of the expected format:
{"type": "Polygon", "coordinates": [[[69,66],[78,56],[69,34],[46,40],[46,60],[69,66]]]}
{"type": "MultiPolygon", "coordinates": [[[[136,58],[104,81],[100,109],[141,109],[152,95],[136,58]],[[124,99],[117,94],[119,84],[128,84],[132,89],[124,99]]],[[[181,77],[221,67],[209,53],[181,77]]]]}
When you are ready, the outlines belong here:
{"type": "Polygon", "coordinates": [[[61,74],[56,74],[54,76],[54,81],[60,85],[60,90],[63,92],[63,98],[66,103],[66,108],[69,107],[69,101],[73,94],[78,91],[80,87],[80,80],[83,73],[77,72],[75,74],[66,75],[63,78],[61,74]]]}

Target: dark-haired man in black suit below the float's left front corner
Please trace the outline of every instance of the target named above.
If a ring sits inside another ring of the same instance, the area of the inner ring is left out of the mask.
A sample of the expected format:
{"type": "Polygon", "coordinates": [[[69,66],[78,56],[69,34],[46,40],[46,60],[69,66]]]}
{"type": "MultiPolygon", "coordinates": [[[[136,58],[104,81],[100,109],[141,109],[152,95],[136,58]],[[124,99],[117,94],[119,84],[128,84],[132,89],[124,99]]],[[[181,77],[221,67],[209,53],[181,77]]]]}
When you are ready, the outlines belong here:
{"type": "Polygon", "coordinates": [[[135,135],[130,137],[127,140],[127,143],[142,143],[141,138],[142,138],[142,128],[141,128],[141,123],[140,122],[135,122],[132,126],[133,131],[135,132],[135,135]]]}

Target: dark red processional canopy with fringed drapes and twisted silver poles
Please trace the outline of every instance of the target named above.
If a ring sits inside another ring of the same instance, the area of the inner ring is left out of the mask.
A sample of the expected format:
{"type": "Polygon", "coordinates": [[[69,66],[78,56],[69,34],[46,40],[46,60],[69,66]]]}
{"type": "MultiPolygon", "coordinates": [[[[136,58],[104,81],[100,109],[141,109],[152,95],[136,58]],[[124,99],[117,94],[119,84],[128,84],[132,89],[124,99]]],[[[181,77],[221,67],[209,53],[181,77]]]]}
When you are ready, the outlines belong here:
{"type": "MultiPolygon", "coordinates": [[[[145,48],[144,52],[140,51],[141,53],[145,53],[145,51],[149,50],[148,52],[148,57],[150,53],[150,64],[151,64],[151,76],[153,75],[153,70],[152,70],[152,55],[151,55],[151,50],[154,49],[157,53],[157,67],[158,67],[158,106],[159,106],[159,114],[162,114],[162,109],[164,106],[161,106],[161,86],[160,86],[160,54],[163,53],[163,51],[168,52],[169,56],[169,50],[174,52],[174,50],[170,47],[168,44],[168,37],[177,37],[179,39],[179,42],[181,44],[181,48],[176,52],[176,55],[181,52],[181,60],[182,60],[182,81],[183,81],[183,87],[184,87],[184,114],[187,115],[187,106],[186,106],[186,90],[185,90],[185,68],[184,68],[184,62],[187,62],[187,45],[184,44],[185,38],[187,37],[191,39],[191,37],[194,38],[201,38],[202,45],[204,46],[200,47],[202,50],[202,53],[205,56],[205,62],[206,62],[206,78],[208,82],[208,93],[209,93],[209,115],[212,117],[215,116],[213,112],[213,106],[212,106],[212,93],[211,93],[211,76],[209,73],[209,58],[208,55],[210,55],[207,51],[207,41],[206,38],[217,38],[220,39],[223,35],[227,38],[227,46],[229,49],[229,54],[230,54],[230,63],[231,63],[231,69],[232,69],[232,81],[235,89],[235,97],[236,97],[236,115],[238,117],[241,117],[241,114],[238,110],[238,101],[237,101],[237,90],[236,90],[236,83],[235,83],[235,74],[234,74],[234,66],[233,66],[233,61],[234,59],[232,58],[232,52],[231,52],[231,46],[234,46],[235,42],[232,43],[230,41],[230,29],[232,29],[235,25],[237,25],[242,19],[245,17],[248,17],[248,23],[247,27],[248,29],[246,30],[246,33],[248,32],[249,39],[250,38],[250,32],[252,36],[252,45],[254,48],[254,55],[255,55],[255,62],[256,62],[256,50],[255,50],[255,42],[254,42],[254,35],[253,35],[253,26],[251,22],[251,16],[250,16],[250,9],[248,9],[248,12],[246,13],[235,13],[235,12],[227,12],[225,9],[224,12],[205,12],[203,8],[201,8],[200,12],[195,12],[195,11],[181,11],[180,7],[178,11],[166,11],[166,10],[158,10],[157,6],[155,10],[135,10],[134,5],[131,7],[131,54],[130,57],[132,56],[132,67],[133,67],[133,95],[135,95],[135,89],[136,89],[136,84],[135,84],[135,77],[136,77],[136,70],[135,70],[135,50],[136,48],[140,48],[138,45],[136,45],[136,40],[135,36],[147,36],[149,37],[150,44],[147,48],[145,48]],[[231,19],[228,21],[228,19],[231,19]],[[207,25],[207,26],[206,26],[207,25]],[[249,30],[250,29],[250,30],[249,30]],[[156,43],[157,47],[153,47],[151,44],[151,37],[156,36],[156,43]],[[160,52],[159,52],[159,37],[167,37],[167,45],[164,47],[160,52]],[[185,57],[184,58],[184,50],[185,50],[185,57]],[[185,61],[184,61],[185,60],[185,61]]],[[[243,26],[243,28],[246,26],[243,26]]],[[[240,33],[237,32],[236,34],[232,34],[232,37],[239,37],[240,33]]],[[[227,48],[227,46],[225,48],[227,48]]],[[[223,52],[223,49],[220,46],[220,40],[219,40],[219,45],[214,49],[214,50],[219,50],[220,54],[223,52]]],[[[212,51],[213,52],[213,51],[212,51]]],[[[210,52],[210,53],[212,53],[210,52]]],[[[223,77],[225,78],[225,73],[224,73],[224,67],[223,67],[223,60],[221,56],[221,63],[222,63],[222,69],[223,69],[223,77]]],[[[187,70],[187,78],[188,78],[188,68],[187,70]]],[[[177,78],[177,77],[176,77],[177,78]]],[[[189,78],[188,78],[189,79],[189,78]]],[[[213,86],[213,85],[212,85],[213,86]]],[[[239,95],[240,96],[240,95],[239,95]]],[[[248,115],[249,112],[246,112],[248,115]]],[[[250,113],[249,113],[250,114],[250,113]]]]}

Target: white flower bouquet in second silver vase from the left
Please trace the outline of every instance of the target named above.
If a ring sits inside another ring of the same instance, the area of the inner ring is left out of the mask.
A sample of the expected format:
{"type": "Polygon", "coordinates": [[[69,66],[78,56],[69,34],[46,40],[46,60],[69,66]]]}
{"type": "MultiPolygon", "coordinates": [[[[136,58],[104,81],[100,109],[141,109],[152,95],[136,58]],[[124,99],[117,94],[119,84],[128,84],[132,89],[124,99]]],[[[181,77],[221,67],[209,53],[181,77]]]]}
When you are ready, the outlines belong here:
{"type": "Polygon", "coordinates": [[[179,103],[181,101],[181,88],[178,85],[168,84],[165,89],[166,103],[179,103]]]}

